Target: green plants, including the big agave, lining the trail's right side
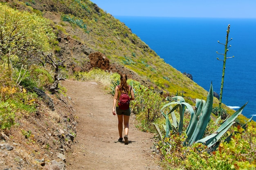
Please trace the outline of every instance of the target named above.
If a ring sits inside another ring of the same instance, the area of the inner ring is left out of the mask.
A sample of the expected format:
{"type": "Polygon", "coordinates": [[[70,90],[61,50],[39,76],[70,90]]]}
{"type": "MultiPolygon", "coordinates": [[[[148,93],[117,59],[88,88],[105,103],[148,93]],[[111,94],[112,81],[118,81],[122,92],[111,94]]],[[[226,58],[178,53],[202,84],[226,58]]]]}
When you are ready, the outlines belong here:
{"type": "MultiPolygon", "coordinates": [[[[83,79],[82,75],[80,76],[80,80],[83,79]]],[[[85,76],[90,81],[104,83],[102,85],[105,87],[106,84],[107,86],[111,84],[108,87],[108,93],[111,94],[120,79],[116,73],[99,69],[85,76]],[[104,76],[101,77],[101,75],[104,76]]],[[[216,124],[213,119],[210,119],[210,115],[213,115],[211,114],[212,86],[207,101],[197,99],[196,109],[193,110],[192,106],[184,102],[183,97],[172,97],[172,100],[167,103],[164,97],[155,93],[153,89],[146,88],[131,79],[128,79],[128,83],[135,91],[136,99],[131,101],[131,109],[136,114],[137,127],[146,132],[154,132],[154,124],[156,126],[163,124],[163,127],[157,126],[158,134],[164,134],[165,137],[159,137],[160,140],[155,146],[162,155],[164,168],[170,170],[253,170],[256,168],[255,124],[249,122],[243,127],[235,124],[236,117],[242,113],[245,105],[226,121],[216,124]],[[161,114],[165,119],[160,118],[161,114]],[[178,119],[180,121],[177,121],[178,119]],[[186,132],[182,130],[184,128],[187,129],[186,132]]]]}

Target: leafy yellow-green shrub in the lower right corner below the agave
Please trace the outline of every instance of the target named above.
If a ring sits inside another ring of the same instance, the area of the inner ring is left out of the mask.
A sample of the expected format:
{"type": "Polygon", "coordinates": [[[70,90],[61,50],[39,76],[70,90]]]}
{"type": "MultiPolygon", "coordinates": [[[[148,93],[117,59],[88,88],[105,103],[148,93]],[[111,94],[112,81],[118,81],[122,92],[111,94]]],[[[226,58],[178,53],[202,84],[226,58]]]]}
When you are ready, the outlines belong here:
{"type": "Polygon", "coordinates": [[[254,170],[256,168],[256,130],[248,123],[247,129],[235,127],[229,143],[220,143],[211,155],[190,150],[184,161],[186,169],[193,170],[254,170]]]}

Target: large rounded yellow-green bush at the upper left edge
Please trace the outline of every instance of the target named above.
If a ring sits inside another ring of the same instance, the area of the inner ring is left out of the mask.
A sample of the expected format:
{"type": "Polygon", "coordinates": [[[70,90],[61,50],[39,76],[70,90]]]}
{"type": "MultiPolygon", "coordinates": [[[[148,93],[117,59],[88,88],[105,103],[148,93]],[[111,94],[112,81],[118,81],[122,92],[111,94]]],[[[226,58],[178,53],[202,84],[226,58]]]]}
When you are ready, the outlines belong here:
{"type": "Polygon", "coordinates": [[[7,64],[12,78],[13,65],[29,66],[42,60],[54,38],[45,18],[27,11],[21,12],[0,4],[0,62],[7,64]]]}

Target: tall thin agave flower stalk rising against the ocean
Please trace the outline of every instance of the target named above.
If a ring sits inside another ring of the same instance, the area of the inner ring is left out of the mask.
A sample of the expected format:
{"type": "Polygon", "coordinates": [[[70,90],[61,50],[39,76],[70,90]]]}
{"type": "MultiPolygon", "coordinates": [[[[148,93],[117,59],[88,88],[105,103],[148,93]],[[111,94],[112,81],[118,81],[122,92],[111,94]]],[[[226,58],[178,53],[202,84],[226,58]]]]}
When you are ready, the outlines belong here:
{"type": "Polygon", "coordinates": [[[226,60],[227,58],[233,58],[234,56],[232,57],[227,57],[227,51],[229,51],[229,47],[231,47],[231,45],[227,46],[228,42],[232,40],[232,38],[230,40],[228,40],[229,38],[229,29],[230,29],[230,24],[228,25],[227,27],[227,36],[226,36],[226,44],[222,44],[220,43],[220,41],[218,41],[218,43],[222,44],[222,45],[225,45],[225,53],[224,54],[221,54],[221,53],[218,53],[218,51],[216,51],[217,54],[220,54],[220,55],[224,55],[224,60],[220,60],[219,58],[217,58],[217,60],[219,61],[223,61],[223,68],[222,68],[222,78],[221,78],[221,86],[220,86],[220,103],[219,103],[219,112],[218,112],[218,117],[220,117],[220,112],[221,112],[221,102],[222,102],[222,92],[223,92],[223,86],[224,86],[224,75],[225,75],[225,65],[226,65],[226,60]]]}

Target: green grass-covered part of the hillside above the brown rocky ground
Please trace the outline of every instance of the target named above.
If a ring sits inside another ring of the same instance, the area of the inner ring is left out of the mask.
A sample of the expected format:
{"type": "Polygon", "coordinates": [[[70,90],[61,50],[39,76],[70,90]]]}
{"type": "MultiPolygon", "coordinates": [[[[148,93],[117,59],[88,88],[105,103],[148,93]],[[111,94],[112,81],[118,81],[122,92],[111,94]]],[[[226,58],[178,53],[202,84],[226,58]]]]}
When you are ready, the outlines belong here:
{"type": "MultiPolygon", "coordinates": [[[[68,15],[70,18],[83,20],[87,29],[79,28],[71,24],[74,31],[70,34],[73,38],[80,40],[88,47],[104,53],[110,62],[117,62],[138,73],[144,79],[153,82],[158,88],[170,95],[184,95],[186,102],[194,106],[196,98],[206,99],[207,91],[193,82],[191,79],[177,71],[171,65],[164,62],[155,51],[133,34],[130,29],[119,20],[102,9],[97,10],[97,5],[89,0],[13,0],[23,4],[31,11],[43,13],[52,11],[54,13],[68,15]],[[29,2],[29,6],[25,3],[29,2]],[[32,7],[32,8],[31,8],[32,7]],[[34,9],[33,9],[34,8],[34,9]],[[36,10],[35,10],[36,9],[36,10]],[[42,11],[42,12],[41,12],[42,11]],[[72,15],[70,15],[72,13],[72,15]],[[81,31],[83,32],[81,34],[81,31]],[[89,32],[89,33],[86,33],[89,32]]],[[[44,16],[44,15],[43,15],[44,16]]],[[[57,28],[65,30],[70,26],[67,22],[56,23],[57,28]]],[[[173,62],[181,62],[179,59],[173,62]]],[[[182,64],[182,63],[181,63],[182,64]]],[[[221,78],[221,77],[220,77],[221,78]]],[[[210,87],[209,82],[209,87],[210,87]]],[[[214,106],[218,106],[218,99],[214,99],[214,106]]],[[[228,113],[234,113],[224,106],[228,113]]],[[[240,116],[243,120],[244,117],[240,116]]]]}

